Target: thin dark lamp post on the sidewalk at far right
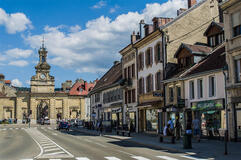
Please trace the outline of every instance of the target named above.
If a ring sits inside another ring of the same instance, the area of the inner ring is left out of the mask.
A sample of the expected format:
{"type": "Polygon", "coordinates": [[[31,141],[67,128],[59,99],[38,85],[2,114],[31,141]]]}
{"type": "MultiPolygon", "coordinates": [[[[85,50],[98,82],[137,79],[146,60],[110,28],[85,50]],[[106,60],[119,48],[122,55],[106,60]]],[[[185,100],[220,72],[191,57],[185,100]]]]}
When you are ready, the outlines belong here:
{"type": "Polygon", "coordinates": [[[228,103],[227,103],[227,78],[228,78],[228,65],[226,64],[223,67],[223,75],[224,75],[224,91],[225,91],[225,118],[226,118],[226,128],[224,135],[224,154],[228,154],[228,103]]]}

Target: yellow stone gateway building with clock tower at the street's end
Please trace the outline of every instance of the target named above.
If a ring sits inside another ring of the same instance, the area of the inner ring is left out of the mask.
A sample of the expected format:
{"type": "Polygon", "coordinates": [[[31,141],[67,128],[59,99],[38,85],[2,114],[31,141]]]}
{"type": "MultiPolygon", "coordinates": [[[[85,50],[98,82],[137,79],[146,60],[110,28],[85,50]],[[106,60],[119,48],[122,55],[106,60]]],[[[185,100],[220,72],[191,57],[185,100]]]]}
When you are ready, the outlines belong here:
{"type": "Polygon", "coordinates": [[[31,123],[41,118],[49,118],[51,123],[55,123],[56,119],[86,119],[85,98],[94,83],[76,82],[64,89],[55,88],[44,45],[38,54],[36,75],[31,78],[30,88],[9,86],[3,83],[4,76],[0,75],[0,119],[15,118],[21,122],[29,116],[31,123]]]}

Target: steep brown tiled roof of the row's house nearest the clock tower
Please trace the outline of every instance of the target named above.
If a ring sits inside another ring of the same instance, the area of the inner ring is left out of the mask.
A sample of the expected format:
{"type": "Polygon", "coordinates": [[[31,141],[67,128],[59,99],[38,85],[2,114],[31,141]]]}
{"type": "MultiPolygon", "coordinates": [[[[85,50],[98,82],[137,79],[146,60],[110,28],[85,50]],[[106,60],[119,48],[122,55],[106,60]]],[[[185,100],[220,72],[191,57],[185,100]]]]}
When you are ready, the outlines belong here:
{"type": "Polygon", "coordinates": [[[117,63],[113,65],[108,72],[96,83],[92,91],[113,85],[119,82],[122,78],[122,63],[117,63]]]}

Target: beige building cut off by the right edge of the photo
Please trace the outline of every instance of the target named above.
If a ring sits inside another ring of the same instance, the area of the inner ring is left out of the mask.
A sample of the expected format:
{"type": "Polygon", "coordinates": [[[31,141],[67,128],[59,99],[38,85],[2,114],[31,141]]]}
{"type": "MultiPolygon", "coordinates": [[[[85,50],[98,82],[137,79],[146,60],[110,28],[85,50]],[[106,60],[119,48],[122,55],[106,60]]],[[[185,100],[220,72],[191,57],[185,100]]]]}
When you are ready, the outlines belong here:
{"type": "Polygon", "coordinates": [[[221,4],[221,8],[228,64],[229,135],[237,141],[241,139],[241,2],[226,0],[221,4]]]}

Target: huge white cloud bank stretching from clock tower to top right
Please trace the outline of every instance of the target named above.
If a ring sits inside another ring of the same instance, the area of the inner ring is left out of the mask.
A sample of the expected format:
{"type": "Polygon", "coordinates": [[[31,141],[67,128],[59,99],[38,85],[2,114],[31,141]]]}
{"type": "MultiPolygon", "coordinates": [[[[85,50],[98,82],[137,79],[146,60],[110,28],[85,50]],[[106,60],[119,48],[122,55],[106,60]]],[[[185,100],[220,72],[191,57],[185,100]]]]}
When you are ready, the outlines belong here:
{"type": "Polygon", "coordinates": [[[43,34],[24,38],[32,48],[37,48],[44,35],[51,64],[81,73],[105,72],[114,60],[120,58],[118,51],[130,43],[130,33],[139,29],[141,19],[151,23],[154,16],[175,17],[176,11],[185,7],[186,0],[152,3],[140,13],[128,12],[113,20],[105,16],[90,20],[84,29],[75,32],[64,32],[59,26],[46,26],[43,34]]]}

